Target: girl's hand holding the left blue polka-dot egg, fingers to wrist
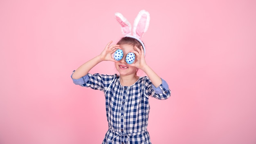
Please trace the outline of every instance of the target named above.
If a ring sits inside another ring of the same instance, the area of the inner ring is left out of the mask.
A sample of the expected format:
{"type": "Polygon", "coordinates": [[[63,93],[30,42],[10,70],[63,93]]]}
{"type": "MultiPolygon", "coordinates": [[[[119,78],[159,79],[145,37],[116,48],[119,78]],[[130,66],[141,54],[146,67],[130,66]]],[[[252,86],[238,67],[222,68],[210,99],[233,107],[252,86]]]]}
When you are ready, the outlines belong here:
{"type": "Polygon", "coordinates": [[[117,50],[117,49],[121,49],[119,47],[119,44],[114,44],[111,45],[112,41],[110,41],[105,49],[101,52],[101,54],[99,55],[101,60],[106,60],[106,61],[112,61],[112,62],[118,62],[117,60],[115,60],[114,58],[112,58],[112,54],[117,50]]]}

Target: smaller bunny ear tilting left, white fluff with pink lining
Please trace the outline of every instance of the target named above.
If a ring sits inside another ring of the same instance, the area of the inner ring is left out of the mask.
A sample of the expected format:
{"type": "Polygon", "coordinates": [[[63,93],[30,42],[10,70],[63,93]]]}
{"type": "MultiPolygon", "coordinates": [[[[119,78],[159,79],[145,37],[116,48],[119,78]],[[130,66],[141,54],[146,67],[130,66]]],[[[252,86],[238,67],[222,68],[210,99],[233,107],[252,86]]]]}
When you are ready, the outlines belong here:
{"type": "Polygon", "coordinates": [[[117,22],[121,25],[121,30],[124,35],[131,35],[131,24],[121,13],[115,13],[117,22]]]}

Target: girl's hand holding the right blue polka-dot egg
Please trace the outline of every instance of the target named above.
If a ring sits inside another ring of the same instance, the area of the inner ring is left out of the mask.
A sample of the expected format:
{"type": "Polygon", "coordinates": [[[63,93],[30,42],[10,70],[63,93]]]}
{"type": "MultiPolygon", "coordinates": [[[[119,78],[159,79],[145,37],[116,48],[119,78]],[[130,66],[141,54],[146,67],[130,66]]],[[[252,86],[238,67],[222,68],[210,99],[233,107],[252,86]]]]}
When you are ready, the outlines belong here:
{"type": "Polygon", "coordinates": [[[144,66],[147,66],[146,61],[145,61],[145,57],[144,57],[144,50],[143,47],[141,46],[140,49],[138,47],[135,46],[135,49],[137,51],[130,51],[132,53],[134,53],[136,55],[137,60],[135,60],[134,63],[129,64],[130,66],[135,66],[138,69],[142,69],[144,68],[144,66]]]}

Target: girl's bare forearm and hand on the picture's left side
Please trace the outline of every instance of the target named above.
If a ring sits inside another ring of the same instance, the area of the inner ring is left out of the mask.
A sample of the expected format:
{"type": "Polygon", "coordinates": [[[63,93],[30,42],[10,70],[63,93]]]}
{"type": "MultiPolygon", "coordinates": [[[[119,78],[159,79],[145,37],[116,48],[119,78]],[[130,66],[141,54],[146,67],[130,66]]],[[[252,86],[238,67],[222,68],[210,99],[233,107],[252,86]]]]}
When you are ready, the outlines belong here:
{"type": "Polygon", "coordinates": [[[104,60],[117,62],[114,58],[112,58],[112,53],[114,53],[117,49],[120,49],[120,47],[117,44],[110,46],[111,43],[112,43],[112,41],[106,45],[105,49],[101,52],[100,55],[97,55],[96,57],[92,58],[88,62],[85,62],[83,65],[79,66],[79,68],[76,69],[76,71],[74,71],[72,78],[79,79],[79,78],[83,77],[84,75],[87,75],[87,73],[94,66],[96,66],[97,64],[99,64],[100,62],[102,62],[104,60]]]}

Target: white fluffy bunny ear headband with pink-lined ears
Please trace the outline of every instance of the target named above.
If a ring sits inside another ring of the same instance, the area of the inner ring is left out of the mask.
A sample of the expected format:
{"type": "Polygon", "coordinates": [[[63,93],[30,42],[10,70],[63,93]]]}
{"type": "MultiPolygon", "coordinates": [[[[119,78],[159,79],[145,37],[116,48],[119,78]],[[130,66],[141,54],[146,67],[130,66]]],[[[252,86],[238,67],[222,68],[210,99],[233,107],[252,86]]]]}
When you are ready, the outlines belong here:
{"type": "Polygon", "coordinates": [[[131,34],[132,27],[130,22],[128,22],[128,20],[121,13],[115,13],[115,17],[117,19],[117,22],[119,22],[119,24],[121,25],[121,30],[125,37],[135,38],[136,40],[138,40],[143,47],[145,55],[146,49],[144,43],[140,40],[140,38],[148,30],[150,21],[149,13],[145,10],[139,11],[137,17],[134,20],[133,35],[131,34]]]}

